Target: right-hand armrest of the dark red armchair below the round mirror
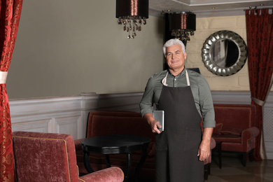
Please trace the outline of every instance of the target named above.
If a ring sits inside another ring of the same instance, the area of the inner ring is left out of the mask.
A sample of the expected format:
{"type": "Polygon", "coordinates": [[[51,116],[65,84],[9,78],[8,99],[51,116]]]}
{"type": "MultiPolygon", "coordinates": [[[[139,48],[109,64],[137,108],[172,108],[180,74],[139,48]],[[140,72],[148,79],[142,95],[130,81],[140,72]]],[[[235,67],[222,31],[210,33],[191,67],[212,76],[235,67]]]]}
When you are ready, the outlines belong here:
{"type": "Polygon", "coordinates": [[[244,151],[251,151],[255,147],[255,137],[258,136],[259,132],[257,127],[249,127],[241,132],[241,143],[244,151]]]}

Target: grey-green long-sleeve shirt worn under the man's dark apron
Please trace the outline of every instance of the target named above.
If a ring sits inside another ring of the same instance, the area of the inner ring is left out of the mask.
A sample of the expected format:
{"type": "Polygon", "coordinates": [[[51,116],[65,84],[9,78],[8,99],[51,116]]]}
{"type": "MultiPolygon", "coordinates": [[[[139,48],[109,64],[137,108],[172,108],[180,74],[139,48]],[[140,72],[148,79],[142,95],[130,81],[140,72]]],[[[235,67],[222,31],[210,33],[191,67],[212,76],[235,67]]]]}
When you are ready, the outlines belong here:
{"type": "MultiPolygon", "coordinates": [[[[214,104],[212,102],[211,90],[207,83],[207,80],[195,71],[187,69],[188,76],[190,78],[190,89],[193,92],[193,98],[195,100],[195,106],[197,111],[202,114],[203,127],[215,127],[214,117],[214,104]]],[[[145,88],[144,95],[139,104],[141,109],[141,115],[145,116],[146,113],[153,113],[153,104],[158,108],[158,102],[162,91],[162,79],[165,78],[167,70],[155,73],[148,80],[145,88]]],[[[186,87],[186,71],[183,71],[178,76],[173,76],[172,73],[168,73],[167,76],[168,87],[186,87]]]]}

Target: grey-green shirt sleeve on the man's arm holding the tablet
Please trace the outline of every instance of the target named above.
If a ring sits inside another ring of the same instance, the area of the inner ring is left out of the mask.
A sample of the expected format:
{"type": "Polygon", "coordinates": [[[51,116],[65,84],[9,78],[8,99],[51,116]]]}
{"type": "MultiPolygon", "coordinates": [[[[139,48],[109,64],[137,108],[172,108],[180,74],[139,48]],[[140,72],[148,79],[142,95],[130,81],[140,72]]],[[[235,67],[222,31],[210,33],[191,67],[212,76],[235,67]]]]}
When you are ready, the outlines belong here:
{"type": "Polygon", "coordinates": [[[142,117],[144,117],[146,113],[153,113],[153,77],[148,80],[139,107],[142,117]]]}

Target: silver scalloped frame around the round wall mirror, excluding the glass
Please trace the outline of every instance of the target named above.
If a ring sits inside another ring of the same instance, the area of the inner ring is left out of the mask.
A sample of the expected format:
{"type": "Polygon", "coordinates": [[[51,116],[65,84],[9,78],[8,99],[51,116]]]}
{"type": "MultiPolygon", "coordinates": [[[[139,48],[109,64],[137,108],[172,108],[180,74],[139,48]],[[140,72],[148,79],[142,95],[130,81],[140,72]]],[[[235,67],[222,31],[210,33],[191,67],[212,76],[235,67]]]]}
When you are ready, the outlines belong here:
{"type": "Polygon", "coordinates": [[[216,31],[214,34],[211,34],[211,36],[209,36],[209,38],[207,38],[206,41],[203,43],[202,61],[204,62],[204,66],[206,66],[207,69],[211,71],[211,73],[214,73],[218,76],[230,76],[232,74],[237,73],[243,68],[244,64],[246,63],[246,58],[247,58],[246,43],[244,42],[244,39],[241,38],[241,36],[239,36],[233,31],[228,30],[216,31]],[[223,39],[233,41],[237,45],[237,48],[239,50],[239,57],[237,61],[235,62],[235,64],[227,68],[223,68],[214,64],[210,56],[211,47],[214,45],[214,43],[216,43],[217,41],[221,41],[223,39]]]}

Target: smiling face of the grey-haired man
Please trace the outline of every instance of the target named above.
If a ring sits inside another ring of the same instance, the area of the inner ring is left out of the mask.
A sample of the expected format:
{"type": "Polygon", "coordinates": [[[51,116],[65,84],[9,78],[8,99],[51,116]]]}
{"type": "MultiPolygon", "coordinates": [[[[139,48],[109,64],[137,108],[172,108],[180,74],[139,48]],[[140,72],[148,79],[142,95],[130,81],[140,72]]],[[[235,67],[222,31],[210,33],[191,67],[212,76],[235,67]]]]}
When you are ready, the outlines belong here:
{"type": "Polygon", "coordinates": [[[183,53],[181,45],[172,45],[166,48],[166,62],[170,71],[181,72],[184,69],[186,52],[183,53]]]}

